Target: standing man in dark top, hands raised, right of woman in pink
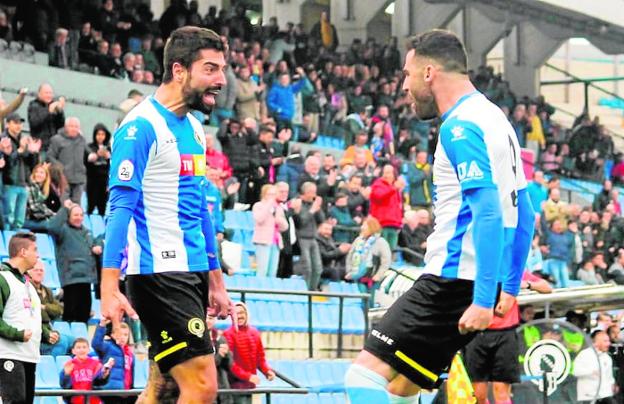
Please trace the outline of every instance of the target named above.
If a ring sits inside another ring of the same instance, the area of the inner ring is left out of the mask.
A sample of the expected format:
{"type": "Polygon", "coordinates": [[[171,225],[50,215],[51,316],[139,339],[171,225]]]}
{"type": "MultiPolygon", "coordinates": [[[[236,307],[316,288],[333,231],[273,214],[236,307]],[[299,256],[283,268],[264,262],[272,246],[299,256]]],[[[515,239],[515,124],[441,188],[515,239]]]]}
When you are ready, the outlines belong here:
{"type": "Polygon", "coordinates": [[[301,250],[301,263],[304,277],[309,290],[317,290],[323,262],[321,252],[316,241],[316,228],[325,220],[323,213],[323,198],[317,196],[316,185],[313,182],[305,182],[301,185],[301,196],[291,201],[293,220],[299,248],[301,250]]]}

